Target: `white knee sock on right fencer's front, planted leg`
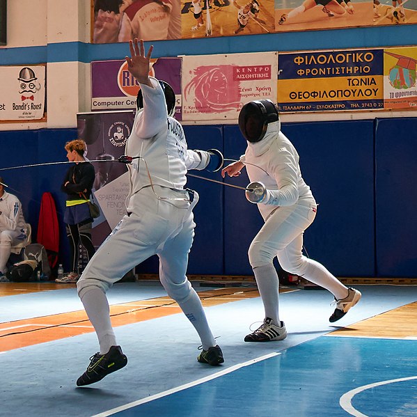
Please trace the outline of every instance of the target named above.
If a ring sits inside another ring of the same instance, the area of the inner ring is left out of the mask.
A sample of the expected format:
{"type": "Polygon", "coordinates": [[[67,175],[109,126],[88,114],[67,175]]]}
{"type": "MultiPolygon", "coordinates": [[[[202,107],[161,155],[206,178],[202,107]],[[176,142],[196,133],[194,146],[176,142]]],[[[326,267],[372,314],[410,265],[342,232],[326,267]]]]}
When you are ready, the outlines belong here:
{"type": "Polygon", "coordinates": [[[274,320],[277,326],[281,326],[278,313],[279,304],[279,281],[278,274],[274,265],[262,265],[262,267],[253,268],[255,280],[258,284],[260,298],[265,308],[265,317],[274,320]]]}

